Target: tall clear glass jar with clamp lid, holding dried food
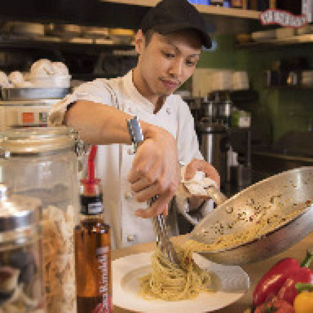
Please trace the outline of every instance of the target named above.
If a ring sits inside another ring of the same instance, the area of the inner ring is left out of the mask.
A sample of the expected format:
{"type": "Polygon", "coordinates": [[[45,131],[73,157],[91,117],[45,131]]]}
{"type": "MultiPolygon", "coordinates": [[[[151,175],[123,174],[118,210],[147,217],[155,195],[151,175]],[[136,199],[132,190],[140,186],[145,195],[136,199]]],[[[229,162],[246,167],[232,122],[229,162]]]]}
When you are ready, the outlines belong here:
{"type": "Polygon", "coordinates": [[[67,127],[0,134],[0,181],[43,205],[47,313],[76,313],[73,229],[79,207],[76,133],[67,127]]]}

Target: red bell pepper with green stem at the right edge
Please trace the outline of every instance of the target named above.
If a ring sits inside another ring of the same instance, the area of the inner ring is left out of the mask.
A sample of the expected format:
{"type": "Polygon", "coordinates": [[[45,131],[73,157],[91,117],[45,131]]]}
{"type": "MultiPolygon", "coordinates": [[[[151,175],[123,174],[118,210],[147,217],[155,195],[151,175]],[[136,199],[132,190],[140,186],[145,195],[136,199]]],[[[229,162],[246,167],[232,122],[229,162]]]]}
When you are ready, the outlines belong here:
{"type": "Polygon", "coordinates": [[[293,269],[282,285],[281,289],[278,291],[278,298],[293,304],[294,298],[297,296],[298,291],[295,288],[296,283],[313,283],[313,271],[308,268],[312,261],[312,254],[308,250],[307,256],[300,268],[293,269]]]}

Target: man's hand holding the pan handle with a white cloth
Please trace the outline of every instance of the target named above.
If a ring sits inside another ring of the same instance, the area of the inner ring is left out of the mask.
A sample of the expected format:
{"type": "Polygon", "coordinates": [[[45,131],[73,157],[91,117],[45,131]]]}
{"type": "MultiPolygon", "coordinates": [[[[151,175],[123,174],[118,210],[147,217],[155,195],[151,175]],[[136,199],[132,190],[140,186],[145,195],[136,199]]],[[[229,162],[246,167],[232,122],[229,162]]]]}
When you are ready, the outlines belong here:
{"type": "MultiPolygon", "coordinates": [[[[206,177],[209,177],[210,179],[213,179],[217,185],[218,188],[220,188],[220,175],[216,171],[216,169],[208,162],[201,160],[201,159],[196,159],[194,158],[187,166],[185,170],[185,179],[189,180],[192,179],[197,171],[202,171],[205,173],[206,177]]],[[[197,209],[200,205],[201,202],[208,199],[208,197],[203,197],[203,196],[192,196],[189,197],[189,210],[195,210],[197,209]]]]}

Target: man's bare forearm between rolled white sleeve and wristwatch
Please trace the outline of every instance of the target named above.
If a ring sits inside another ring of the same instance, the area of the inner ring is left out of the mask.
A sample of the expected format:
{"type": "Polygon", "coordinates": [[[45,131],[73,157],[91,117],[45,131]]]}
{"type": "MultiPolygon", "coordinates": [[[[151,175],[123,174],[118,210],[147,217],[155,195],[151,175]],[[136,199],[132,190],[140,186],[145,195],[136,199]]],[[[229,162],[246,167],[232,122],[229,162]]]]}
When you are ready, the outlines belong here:
{"type": "MultiPolygon", "coordinates": [[[[116,108],[92,101],[79,100],[68,110],[65,124],[77,130],[86,143],[131,144],[126,119],[132,116],[116,108]]],[[[145,137],[150,137],[153,126],[141,122],[145,137]]]]}

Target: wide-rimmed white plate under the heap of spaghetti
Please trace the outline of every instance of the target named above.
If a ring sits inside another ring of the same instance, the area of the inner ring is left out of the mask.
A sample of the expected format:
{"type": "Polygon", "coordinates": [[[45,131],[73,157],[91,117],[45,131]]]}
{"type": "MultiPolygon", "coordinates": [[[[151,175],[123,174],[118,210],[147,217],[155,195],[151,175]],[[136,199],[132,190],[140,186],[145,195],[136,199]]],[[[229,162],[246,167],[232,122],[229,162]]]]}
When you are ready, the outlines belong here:
{"type": "Polygon", "coordinates": [[[138,296],[138,277],[151,271],[151,252],[126,256],[113,261],[113,304],[128,310],[151,313],[213,312],[237,301],[249,289],[249,277],[238,266],[224,266],[194,254],[195,262],[213,272],[218,291],[201,293],[192,300],[145,300],[138,296]]]}

